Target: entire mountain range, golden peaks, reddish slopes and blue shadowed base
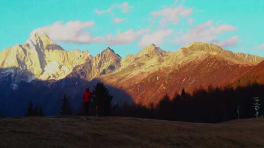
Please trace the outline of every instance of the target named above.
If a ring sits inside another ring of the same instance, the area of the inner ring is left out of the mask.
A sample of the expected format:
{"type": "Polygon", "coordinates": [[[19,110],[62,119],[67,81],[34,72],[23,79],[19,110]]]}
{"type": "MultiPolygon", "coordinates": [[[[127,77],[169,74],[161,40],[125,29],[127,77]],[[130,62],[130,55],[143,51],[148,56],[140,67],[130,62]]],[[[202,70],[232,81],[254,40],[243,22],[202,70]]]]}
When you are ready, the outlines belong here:
{"type": "Polygon", "coordinates": [[[31,100],[47,114],[55,114],[65,93],[77,109],[83,89],[97,82],[109,87],[113,104],[148,106],[183,88],[192,92],[208,85],[264,83],[263,60],[200,42],[176,52],[151,44],[125,58],[108,47],[93,57],[88,51],[66,51],[45,34],[36,33],[24,45],[0,52],[0,111],[22,116],[31,100]]]}

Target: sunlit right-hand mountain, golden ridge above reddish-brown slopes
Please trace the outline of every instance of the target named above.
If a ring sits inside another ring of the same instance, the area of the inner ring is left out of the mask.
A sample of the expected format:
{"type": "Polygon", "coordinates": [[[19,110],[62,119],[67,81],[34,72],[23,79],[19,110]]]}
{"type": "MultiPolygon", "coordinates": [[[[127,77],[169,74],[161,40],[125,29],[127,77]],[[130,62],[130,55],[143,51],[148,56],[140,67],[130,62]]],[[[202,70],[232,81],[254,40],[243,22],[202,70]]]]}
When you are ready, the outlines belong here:
{"type": "Polygon", "coordinates": [[[226,86],[264,60],[259,56],[225,51],[214,44],[194,42],[177,52],[166,52],[151,45],[121,60],[121,67],[102,81],[126,90],[134,102],[157,104],[181,89],[226,86]]]}

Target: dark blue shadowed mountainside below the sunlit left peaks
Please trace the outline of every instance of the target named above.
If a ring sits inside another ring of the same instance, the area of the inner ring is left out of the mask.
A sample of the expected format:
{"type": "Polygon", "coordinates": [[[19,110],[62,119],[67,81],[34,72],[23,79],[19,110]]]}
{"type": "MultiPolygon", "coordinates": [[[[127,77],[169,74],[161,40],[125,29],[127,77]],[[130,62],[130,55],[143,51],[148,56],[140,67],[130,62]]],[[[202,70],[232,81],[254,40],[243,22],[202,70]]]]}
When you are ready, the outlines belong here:
{"type": "MultiPolygon", "coordinates": [[[[14,78],[18,76],[17,72],[20,70],[14,67],[0,69],[0,110],[8,117],[23,116],[29,101],[32,101],[33,105],[41,105],[45,115],[57,115],[65,94],[69,97],[73,113],[75,113],[82,105],[84,89],[88,87],[93,90],[93,86],[101,82],[99,79],[87,81],[69,77],[56,81],[35,79],[26,82],[26,78],[25,81],[14,81],[14,78]],[[8,71],[10,71],[9,74],[3,73],[8,71]]],[[[27,71],[23,73],[33,75],[27,71]]],[[[113,95],[113,106],[122,106],[124,103],[134,104],[131,96],[124,90],[107,84],[105,86],[113,95]]]]}

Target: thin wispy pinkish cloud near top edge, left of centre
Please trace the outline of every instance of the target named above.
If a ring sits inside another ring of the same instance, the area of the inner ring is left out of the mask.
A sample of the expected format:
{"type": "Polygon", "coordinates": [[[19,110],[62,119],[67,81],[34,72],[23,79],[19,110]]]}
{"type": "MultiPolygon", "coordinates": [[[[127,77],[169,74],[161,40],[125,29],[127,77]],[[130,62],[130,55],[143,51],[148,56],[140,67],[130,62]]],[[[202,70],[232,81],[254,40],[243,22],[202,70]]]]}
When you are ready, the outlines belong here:
{"type": "Polygon", "coordinates": [[[130,6],[128,4],[128,2],[124,2],[124,3],[117,3],[117,4],[113,4],[110,8],[108,8],[107,10],[101,10],[99,11],[98,9],[95,9],[94,12],[98,15],[103,15],[105,13],[110,13],[114,8],[117,8],[119,10],[121,10],[123,13],[128,13],[133,6],[130,6]]]}

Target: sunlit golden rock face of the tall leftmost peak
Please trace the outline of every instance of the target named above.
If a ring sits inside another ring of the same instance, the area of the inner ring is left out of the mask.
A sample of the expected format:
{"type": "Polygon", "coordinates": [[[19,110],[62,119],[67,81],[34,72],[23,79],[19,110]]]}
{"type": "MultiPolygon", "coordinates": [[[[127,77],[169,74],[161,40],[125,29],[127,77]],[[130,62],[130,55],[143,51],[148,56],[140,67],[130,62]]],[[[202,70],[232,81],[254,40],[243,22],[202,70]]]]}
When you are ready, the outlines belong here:
{"type": "Polygon", "coordinates": [[[27,82],[34,79],[57,80],[64,78],[75,66],[85,63],[91,57],[87,51],[66,51],[45,34],[35,33],[24,45],[8,47],[0,52],[0,69],[7,69],[1,71],[2,74],[14,72],[9,68],[27,73],[27,77],[22,79],[27,82]]]}

